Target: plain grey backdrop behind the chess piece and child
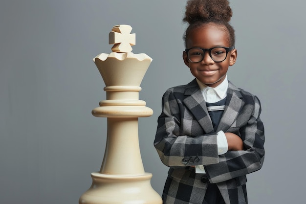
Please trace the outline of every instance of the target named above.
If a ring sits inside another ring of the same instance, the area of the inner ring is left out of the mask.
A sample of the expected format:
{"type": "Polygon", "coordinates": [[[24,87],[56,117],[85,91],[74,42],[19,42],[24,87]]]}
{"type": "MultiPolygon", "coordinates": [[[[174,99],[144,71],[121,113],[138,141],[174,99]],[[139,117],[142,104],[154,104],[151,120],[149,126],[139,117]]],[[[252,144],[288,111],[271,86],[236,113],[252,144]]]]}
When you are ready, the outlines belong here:
{"type": "MultiPolygon", "coordinates": [[[[193,79],[181,58],[185,0],[2,0],[0,3],[0,203],[77,204],[99,171],[106,118],[91,115],[106,98],[92,58],[110,53],[111,27],[129,24],[133,53],[153,58],[140,99],[145,170],[161,193],[167,175],[153,148],[163,92],[193,79]]],[[[250,204],[305,200],[304,0],[231,0],[236,86],[262,102],[266,158],[248,175],[250,204]]]]}

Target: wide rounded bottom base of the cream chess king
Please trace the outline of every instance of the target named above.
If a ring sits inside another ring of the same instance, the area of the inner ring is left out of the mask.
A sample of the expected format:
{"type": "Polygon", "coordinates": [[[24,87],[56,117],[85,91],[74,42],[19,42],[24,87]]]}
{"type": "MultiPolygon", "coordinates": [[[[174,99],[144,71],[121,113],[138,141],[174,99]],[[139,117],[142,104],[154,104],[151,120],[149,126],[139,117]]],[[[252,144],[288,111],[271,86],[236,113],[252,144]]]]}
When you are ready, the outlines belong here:
{"type": "Polygon", "coordinates": [[[151,186],[151,173],[134,176],[91,173],[92,184],[79,204],[161,204],[151,186]]]}

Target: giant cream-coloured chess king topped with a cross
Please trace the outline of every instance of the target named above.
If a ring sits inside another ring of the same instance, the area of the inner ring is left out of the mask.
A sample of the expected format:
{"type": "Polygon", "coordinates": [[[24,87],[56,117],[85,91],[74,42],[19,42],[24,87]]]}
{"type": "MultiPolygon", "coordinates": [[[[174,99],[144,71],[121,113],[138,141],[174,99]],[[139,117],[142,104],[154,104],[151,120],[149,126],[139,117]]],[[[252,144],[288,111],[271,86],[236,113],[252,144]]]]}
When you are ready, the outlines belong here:
{"type": "Polygon", "coordinates": [[[151,186],[151,173],[142,164],[138,141],[138,117],[148,117],[152,109],[139,100],[140,83],[152,59],[133,54],[135,34],[130,25],[116,25],[109,33],[110,54],[96,56],[95,62],[106,87],[107,100],[92,110],[107,117],[107,144],[100,172],[91,173],[92,185],[79,204],[161,204],[151,186]]]}

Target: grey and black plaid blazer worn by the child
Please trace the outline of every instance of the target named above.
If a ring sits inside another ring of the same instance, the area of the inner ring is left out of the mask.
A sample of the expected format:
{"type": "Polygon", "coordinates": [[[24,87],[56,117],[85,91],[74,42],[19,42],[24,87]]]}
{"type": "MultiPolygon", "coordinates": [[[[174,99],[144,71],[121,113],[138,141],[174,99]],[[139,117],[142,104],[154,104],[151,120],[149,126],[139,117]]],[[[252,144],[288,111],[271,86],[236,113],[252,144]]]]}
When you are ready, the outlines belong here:
{"type": "Polygon", "coordinates": [[[264,159],[264,128],[259,99],[236,88],[227,90],[225,110],[214,132],[206,102],[196,79],[168,89],[154,147],[170,167],[163,193],[164,204],[202,204],[207,182],[191,165],[204,165],[208,181],[216,183],[226,204],[246,204],[246,174],[259,170],[264,159]],[[243,151],[218,155],[217,135],[222,130],[241,137],[243,151]]]}

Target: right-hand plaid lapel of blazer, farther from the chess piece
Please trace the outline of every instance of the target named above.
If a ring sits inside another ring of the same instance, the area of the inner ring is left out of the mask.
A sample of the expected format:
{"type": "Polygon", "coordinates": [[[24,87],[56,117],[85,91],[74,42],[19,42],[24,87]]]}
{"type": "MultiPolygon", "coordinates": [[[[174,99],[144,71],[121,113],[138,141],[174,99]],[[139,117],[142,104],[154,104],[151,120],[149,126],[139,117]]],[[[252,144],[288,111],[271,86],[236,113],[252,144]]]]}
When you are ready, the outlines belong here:
{"type": "Polygon", "coordinates": [[[240,113],[240,109],[244,105],[241,98],[242,96],[239,89],[229,82],[224,113],[222,114],[216,132],[219,132],[220,130],[228,130],[236,121],[237,115],[240,113]]]}

